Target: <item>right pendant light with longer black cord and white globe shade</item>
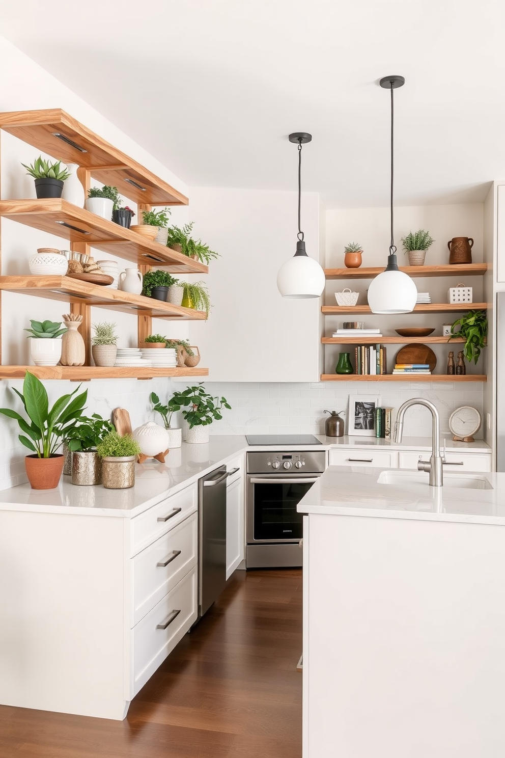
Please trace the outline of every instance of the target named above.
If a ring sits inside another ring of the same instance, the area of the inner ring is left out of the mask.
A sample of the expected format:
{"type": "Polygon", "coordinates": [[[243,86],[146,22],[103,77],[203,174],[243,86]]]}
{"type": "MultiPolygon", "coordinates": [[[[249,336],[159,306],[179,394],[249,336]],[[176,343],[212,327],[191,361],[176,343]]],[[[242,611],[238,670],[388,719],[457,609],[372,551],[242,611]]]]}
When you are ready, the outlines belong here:
{"type": "Polygon", "coordinates": [[[417,299],[413,280],[398,268],[393,240],[393,90],[404,83],[404,77],[384,77],[379,82],[380,86],[391,90],[391,244],[385,271],[376,276],[368,289],[368,304],[373,313],[410,313],[417,299]]]}

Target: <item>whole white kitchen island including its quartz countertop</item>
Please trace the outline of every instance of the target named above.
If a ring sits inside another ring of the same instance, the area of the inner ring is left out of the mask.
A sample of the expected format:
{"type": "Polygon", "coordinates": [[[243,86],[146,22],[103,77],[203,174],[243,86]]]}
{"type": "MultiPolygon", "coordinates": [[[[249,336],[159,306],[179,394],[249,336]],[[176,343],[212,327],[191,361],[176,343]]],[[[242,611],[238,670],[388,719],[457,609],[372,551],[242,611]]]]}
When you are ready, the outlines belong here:
{"type": "Polygon", "coordinates": [[[505,474],[444,481],[330,466],[298,505],[304,758],[505,753],[505,474]]]}

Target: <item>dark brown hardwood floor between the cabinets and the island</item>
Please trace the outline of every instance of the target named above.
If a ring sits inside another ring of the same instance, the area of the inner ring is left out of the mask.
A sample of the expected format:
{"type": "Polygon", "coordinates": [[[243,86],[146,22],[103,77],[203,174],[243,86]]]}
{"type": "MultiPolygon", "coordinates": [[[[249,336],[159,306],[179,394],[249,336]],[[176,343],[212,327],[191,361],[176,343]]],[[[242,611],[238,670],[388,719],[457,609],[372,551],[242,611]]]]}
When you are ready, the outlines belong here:
{"type": "Polygon", "coordinates": [[[238,571],[123,722],[0,706],[0,756],[300,758],[301,569],[238,571]]]}

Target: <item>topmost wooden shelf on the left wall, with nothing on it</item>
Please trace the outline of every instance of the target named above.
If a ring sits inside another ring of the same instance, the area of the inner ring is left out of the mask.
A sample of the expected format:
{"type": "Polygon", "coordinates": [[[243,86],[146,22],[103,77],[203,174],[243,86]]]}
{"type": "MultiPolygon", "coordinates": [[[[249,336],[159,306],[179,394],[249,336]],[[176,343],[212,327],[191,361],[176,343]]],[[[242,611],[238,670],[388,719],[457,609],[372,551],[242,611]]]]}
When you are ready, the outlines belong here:
{"type": "Polygon", "coordinates": [[[79,124],[61,108],[0,113],[0,129],[53,158],[88,169],[94,179],[117,186],[122,195],[134,202],[188,205],[188,198],[173,186],[79,124]]]}

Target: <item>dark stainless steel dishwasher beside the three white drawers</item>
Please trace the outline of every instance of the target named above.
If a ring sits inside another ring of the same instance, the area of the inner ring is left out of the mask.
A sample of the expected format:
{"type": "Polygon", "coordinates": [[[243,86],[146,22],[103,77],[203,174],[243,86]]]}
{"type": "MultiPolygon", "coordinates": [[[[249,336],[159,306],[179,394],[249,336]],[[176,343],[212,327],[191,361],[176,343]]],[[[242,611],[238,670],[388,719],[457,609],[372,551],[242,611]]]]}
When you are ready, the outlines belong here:
{"type": "Polygon", "coordinates": [[[226,466],[198,480],[198,618],[226,584],[226,466]]]}

